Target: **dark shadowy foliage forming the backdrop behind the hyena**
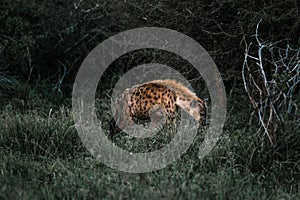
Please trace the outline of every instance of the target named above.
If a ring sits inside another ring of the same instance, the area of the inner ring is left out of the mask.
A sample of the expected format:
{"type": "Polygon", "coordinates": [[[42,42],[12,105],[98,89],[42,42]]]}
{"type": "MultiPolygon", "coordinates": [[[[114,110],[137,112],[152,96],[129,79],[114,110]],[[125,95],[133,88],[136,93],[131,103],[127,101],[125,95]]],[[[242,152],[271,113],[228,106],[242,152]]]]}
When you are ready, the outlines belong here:
{"type": "Polygon", "coordinates": [[[1,68],[25,84],[46,81],[56,90],[72,84],[97,44],[136,27],[166,27],[194,38],[213,56],[229,86],[240,78],[244,41],[253,40],[260,19],[263,40],[299,45],[299,5],[293,0],[4,0],[0,6],[1,68]]]}

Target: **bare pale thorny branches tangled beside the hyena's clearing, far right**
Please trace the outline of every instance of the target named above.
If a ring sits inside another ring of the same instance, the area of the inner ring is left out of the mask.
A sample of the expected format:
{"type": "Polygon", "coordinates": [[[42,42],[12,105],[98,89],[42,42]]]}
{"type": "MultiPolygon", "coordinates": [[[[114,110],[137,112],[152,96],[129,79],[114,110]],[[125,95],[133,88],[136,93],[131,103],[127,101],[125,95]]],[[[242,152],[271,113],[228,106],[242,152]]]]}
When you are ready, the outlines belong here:
{"type": "MultiPolygon", "coordinates": [[[[242,78],[254,113],[267,136],[269,144],[276,144],[276,131],[284,124],[287,115],[292,116],[295,128],[299,128],[300,49],[289,45],[282,49],[278,43],[260,40],[256,26],[257,49],[253,53],[250,43],[245,50],[242,78]],[[251,54],[251,55],[250,55],[251,54]]],[[[263,137],[265,138],[265,137],[263,137]]],[[[265,146],[263,140],[262,146],[265,146]]]]}

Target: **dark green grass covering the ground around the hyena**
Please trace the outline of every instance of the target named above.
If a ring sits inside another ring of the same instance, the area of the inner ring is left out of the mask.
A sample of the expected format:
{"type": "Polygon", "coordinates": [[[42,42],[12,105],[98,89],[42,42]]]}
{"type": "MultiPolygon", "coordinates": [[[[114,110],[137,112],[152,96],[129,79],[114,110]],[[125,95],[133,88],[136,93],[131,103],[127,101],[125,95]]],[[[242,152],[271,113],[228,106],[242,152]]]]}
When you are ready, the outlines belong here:
{"type": "Polygon", "coordinates": [[[85,150],[70,109],[2,108],[0,199],[299,199],[299,164],[260,165],[255,131],[232,123],[205,159],[196,139],[172,165],[143,176],[111,169],[85,150]],[[282,167],[282,171],[278,170],[282,167]],[[297,169],[298,167],[298,169],[297,169]]]}

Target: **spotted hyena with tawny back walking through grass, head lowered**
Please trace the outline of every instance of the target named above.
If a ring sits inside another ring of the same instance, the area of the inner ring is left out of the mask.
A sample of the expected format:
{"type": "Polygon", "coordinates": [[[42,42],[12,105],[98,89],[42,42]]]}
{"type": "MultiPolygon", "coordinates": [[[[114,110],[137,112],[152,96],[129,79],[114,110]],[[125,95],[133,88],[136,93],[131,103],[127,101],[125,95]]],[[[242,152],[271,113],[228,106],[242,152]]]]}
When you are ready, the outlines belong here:
{"type": "Polygon", "coordinates": [[[130,126],[134,123],[134,118],[150,119],[151,113],[155,113],[157,117],[161,115],[166,123],[171,123],[179,107],[205,125],[205,101],[175,80],[154,80],[127,88],[116,98],[110,136],[126,125],[130,126]]]}

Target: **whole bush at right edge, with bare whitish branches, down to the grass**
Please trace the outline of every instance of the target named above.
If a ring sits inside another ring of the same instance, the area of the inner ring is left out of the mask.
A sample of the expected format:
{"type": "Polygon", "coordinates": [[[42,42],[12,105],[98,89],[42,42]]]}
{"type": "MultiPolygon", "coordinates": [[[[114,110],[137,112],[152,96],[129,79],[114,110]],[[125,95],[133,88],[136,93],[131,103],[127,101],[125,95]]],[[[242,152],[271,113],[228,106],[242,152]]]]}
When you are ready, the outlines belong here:
{"type": "Polygon", "coordinates": [[[283,42],[264,42],[256,29],[256,47],[246,47],[245,90],[262,129],[262,154],[299,160],[300,49],[283,42]]]}

